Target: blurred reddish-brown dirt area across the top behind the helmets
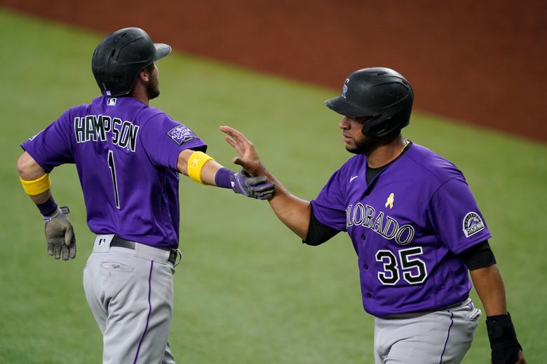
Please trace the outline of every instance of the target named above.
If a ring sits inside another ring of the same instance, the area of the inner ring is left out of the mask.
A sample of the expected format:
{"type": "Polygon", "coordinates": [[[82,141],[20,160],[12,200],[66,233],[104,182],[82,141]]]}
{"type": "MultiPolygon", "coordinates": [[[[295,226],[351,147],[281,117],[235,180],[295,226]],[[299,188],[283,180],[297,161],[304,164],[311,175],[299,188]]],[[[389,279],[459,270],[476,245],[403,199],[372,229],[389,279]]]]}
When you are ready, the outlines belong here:
{"type": "Polygon", "coordinates": [[[547,141],[547,2],[403,0],[0,0],[0,6],[155,41],[338,89],[389,66],[415,109],[547,141]]]}

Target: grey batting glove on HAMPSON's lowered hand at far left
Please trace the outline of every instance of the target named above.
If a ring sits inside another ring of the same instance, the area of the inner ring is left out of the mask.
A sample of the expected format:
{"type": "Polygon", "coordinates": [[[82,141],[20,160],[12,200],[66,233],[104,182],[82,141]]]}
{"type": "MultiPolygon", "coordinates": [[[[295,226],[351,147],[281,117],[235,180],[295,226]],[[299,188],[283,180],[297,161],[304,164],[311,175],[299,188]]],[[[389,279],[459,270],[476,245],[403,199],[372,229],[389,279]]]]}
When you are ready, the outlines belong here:
{"type": "Polygon", "coordinates": [[[48,254],[55,259],[74,259],[76,257],[76,237],[74,228],[67,218],[68,207],[60,207],[54,214],[44,216],[46,221],[46,241],[48,243],[48,254]]]}

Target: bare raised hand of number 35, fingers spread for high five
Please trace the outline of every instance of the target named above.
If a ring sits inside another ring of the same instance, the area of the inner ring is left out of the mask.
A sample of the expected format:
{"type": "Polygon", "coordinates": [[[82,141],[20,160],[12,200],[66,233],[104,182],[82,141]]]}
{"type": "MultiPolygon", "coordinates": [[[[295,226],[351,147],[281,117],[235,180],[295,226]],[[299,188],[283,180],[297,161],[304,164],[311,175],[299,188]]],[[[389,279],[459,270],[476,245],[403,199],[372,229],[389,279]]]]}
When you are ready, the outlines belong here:
{"type": "Polygon", "coordinates": [[[233,127],[223,125],[220,131],[227,134],[228,137],[224,137],[228,144],[232,146],[239,154],[239,157],[235,157],[232,162],[236,165],[240,165],[251,176],[263,176],[266,172],[266,168],[262,165],[255,146],[238,130],[233,127]]]}

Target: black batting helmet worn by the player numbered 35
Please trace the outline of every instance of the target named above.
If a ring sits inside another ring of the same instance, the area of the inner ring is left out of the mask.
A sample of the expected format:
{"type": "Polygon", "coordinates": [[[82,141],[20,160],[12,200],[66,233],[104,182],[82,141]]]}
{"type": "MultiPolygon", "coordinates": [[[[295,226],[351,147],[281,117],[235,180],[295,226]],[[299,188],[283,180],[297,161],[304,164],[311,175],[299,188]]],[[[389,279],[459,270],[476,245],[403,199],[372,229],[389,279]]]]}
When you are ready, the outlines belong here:
{"type": "Polygon", "coordinates": [[[363,134],[382,138],[410,123],[413,99],[412,87],[400,73],[372,67],[351,73],[342,94],[325,105],[344,116],[367,118],[363,134]]]}

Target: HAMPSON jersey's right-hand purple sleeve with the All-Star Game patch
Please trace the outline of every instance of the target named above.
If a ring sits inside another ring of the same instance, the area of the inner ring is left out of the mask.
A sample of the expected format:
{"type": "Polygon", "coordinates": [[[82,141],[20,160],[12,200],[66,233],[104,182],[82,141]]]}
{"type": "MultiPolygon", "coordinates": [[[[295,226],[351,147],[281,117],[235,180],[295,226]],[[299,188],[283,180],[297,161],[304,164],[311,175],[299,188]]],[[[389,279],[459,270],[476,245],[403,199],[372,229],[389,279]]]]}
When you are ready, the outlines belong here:
{"type": "Polygon", "coordinates": [[[165,113],[158,113],[144,123],[141,136],[142,146],[154,165],[174,171],[184,149],[207,150],[207,145],[194,132],[165,113]]]}

